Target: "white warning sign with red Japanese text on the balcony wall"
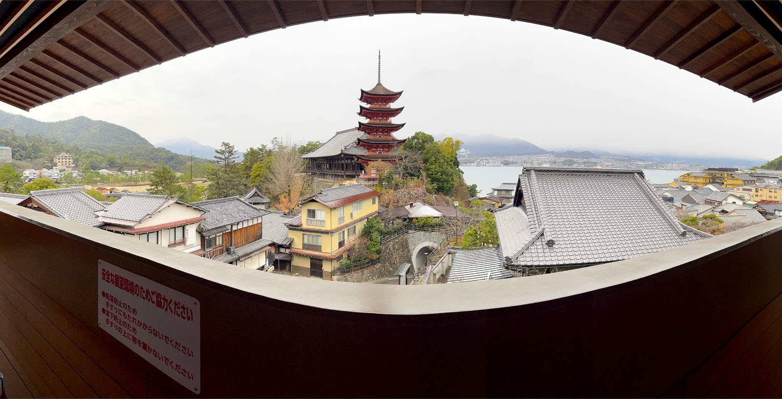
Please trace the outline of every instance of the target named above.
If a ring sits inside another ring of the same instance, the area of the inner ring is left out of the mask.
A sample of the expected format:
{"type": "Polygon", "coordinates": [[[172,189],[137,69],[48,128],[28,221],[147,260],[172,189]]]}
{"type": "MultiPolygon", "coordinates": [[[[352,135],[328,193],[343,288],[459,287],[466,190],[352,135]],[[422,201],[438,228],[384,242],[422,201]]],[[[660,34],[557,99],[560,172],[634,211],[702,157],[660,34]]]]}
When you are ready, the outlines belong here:
{"type": "Polygon", "coordinates": [[[98,262],[98,324],[196,394],[201,393],[200,309],[194,297],[98,262]]]}

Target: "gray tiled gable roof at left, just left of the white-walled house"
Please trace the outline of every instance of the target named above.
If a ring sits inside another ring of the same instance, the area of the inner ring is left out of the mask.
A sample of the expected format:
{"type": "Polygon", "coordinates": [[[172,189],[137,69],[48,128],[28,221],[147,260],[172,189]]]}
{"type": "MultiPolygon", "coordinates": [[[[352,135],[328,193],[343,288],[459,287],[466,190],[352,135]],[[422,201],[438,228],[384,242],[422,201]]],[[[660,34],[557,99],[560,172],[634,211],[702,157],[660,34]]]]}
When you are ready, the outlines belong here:
{"type": "Polygon", "coordinates": [[[95,211],[106,208],[78,187],[31,191],[30,197],[63,219],[77,221],[91,227],[102,225],[95,218],[95,211]]]}

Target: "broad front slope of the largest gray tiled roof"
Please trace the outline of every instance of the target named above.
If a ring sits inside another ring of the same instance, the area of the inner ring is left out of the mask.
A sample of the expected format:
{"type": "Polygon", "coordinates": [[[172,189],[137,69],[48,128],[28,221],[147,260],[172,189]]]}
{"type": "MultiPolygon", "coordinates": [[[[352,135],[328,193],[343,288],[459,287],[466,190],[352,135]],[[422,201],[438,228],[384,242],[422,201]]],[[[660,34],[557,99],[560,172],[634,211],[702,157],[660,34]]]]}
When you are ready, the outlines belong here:
{"type": "MultiPolygon", "coordinates": [[[[517,266],[620,261],[710,237],[677,221],[641,171],[526,167],[519,182],[532,237],[509,256],[517,266]]],[[[498,231],[523,229],[505,222],[498,231]]]]}

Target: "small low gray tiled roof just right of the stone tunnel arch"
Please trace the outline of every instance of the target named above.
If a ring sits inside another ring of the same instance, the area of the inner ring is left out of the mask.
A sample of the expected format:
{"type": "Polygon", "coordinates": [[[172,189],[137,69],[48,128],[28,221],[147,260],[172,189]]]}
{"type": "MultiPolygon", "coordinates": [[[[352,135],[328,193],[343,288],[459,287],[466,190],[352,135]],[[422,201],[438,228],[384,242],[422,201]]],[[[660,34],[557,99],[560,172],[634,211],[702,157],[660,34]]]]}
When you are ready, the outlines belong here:
{"type": "Polygon", "coordinates": [[[502,250],[499,246],[494,246],[454,253],[448,282],[498,280],[510,277],[513,275],[502,263],[502,250]]]}

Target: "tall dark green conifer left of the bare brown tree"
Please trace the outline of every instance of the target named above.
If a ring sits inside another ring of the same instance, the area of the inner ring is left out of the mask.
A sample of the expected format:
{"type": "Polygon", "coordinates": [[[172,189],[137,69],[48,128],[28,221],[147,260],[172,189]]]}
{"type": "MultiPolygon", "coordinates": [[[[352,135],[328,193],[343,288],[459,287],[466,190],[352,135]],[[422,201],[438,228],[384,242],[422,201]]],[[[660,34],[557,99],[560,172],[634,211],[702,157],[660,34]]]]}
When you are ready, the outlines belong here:
{"type": "Polygon", "coordinates": [[[214,165],[210,169],[208,178],[209,185],[206,188],[206,194],[210,199],[224,198],[227,196],[239,196],[244,194],[246,189],[244,173],[241,165],[236,163],[236,149],[229,142],[223,142],[220,149],[215,149],[214,160],[210,162],[214,165]]]}

